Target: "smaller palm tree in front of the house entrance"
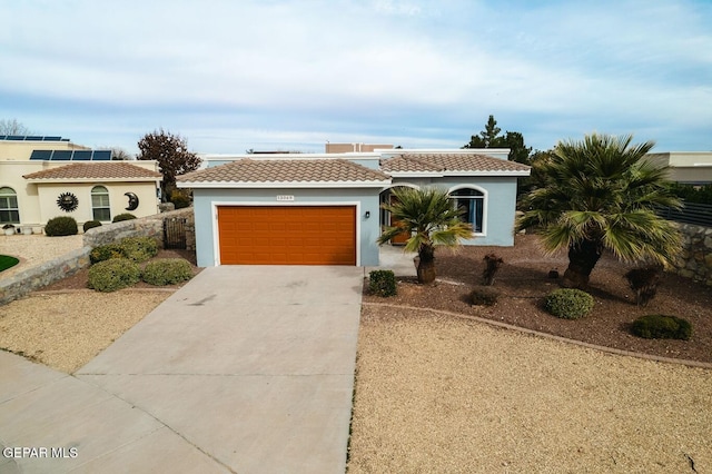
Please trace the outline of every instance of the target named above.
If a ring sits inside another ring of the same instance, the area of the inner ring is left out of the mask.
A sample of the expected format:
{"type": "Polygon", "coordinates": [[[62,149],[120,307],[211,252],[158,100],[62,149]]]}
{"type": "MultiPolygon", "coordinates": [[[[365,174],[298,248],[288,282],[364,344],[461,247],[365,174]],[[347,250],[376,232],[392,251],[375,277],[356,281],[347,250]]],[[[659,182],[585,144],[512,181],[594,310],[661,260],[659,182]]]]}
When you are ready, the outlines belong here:
{"type": "Polygon", "coordinates": [[[411,235],[404,251],[418,253],[418,283],[433,283],[436,246],[456,247],[461,239],[472,238],[472,225],[459,219],[462,210],[455,208],[444,189],[404,187],[392,192],[394,203],[384,204],[383,208],[396,225],[387,227],[377,241],[383,245],[398,234],[411,235]]]}

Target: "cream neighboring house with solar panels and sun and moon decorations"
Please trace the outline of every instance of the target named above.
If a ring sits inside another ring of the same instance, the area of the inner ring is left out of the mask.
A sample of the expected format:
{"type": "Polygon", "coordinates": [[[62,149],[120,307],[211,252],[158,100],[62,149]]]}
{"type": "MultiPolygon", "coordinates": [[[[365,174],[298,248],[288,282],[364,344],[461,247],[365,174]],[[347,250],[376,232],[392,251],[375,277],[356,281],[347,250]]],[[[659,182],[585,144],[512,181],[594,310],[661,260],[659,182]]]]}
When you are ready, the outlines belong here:
{"type": "Polygon", "coordinates": [[[39,228],[57,216],[110,223],[157,214],[156,161],[111,161],[61,137],[0,136],[0,225],[39,228]]]}

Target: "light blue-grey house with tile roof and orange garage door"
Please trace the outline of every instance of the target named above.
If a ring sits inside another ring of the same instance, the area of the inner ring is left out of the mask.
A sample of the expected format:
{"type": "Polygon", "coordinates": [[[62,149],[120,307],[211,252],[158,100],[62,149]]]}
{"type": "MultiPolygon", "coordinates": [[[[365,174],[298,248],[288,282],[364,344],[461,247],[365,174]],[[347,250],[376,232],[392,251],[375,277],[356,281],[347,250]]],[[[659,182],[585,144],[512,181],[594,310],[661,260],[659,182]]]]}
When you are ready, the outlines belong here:
{"type": "Polygon", "coordinates": [[[530,168],[508,151],[206,155],[177,186],[192,189],[199,266],[375,266],[390,224],[380,205],[398,186],[446,188],[475,228],[465,245],[512,246],[516,180],[530,168]]]}

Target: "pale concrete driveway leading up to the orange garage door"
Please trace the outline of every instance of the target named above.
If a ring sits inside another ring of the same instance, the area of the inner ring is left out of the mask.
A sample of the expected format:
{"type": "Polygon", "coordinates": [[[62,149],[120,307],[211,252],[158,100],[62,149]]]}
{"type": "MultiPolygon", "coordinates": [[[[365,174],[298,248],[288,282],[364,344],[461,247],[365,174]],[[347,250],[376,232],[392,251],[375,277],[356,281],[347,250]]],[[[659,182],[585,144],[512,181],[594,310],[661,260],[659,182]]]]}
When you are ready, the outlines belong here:
{"type": "Polygon", "coordinates": [[[0,471],[343,473],[363,271],[207,268],[75,376],[0,353],[0,443],[68,450],[0,471]]]}

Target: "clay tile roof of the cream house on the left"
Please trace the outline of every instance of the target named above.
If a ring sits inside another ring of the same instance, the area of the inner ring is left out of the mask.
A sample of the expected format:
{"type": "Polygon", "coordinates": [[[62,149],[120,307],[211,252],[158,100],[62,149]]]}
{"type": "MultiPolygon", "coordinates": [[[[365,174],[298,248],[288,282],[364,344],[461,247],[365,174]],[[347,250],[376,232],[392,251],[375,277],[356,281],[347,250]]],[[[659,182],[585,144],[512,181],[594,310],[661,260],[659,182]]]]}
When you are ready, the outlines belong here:
{"type": "Polygon", "coordinates": [[[123,161],[77,162],[22,176],[26,179],[162,179],[160,172],[123,161]]]}

